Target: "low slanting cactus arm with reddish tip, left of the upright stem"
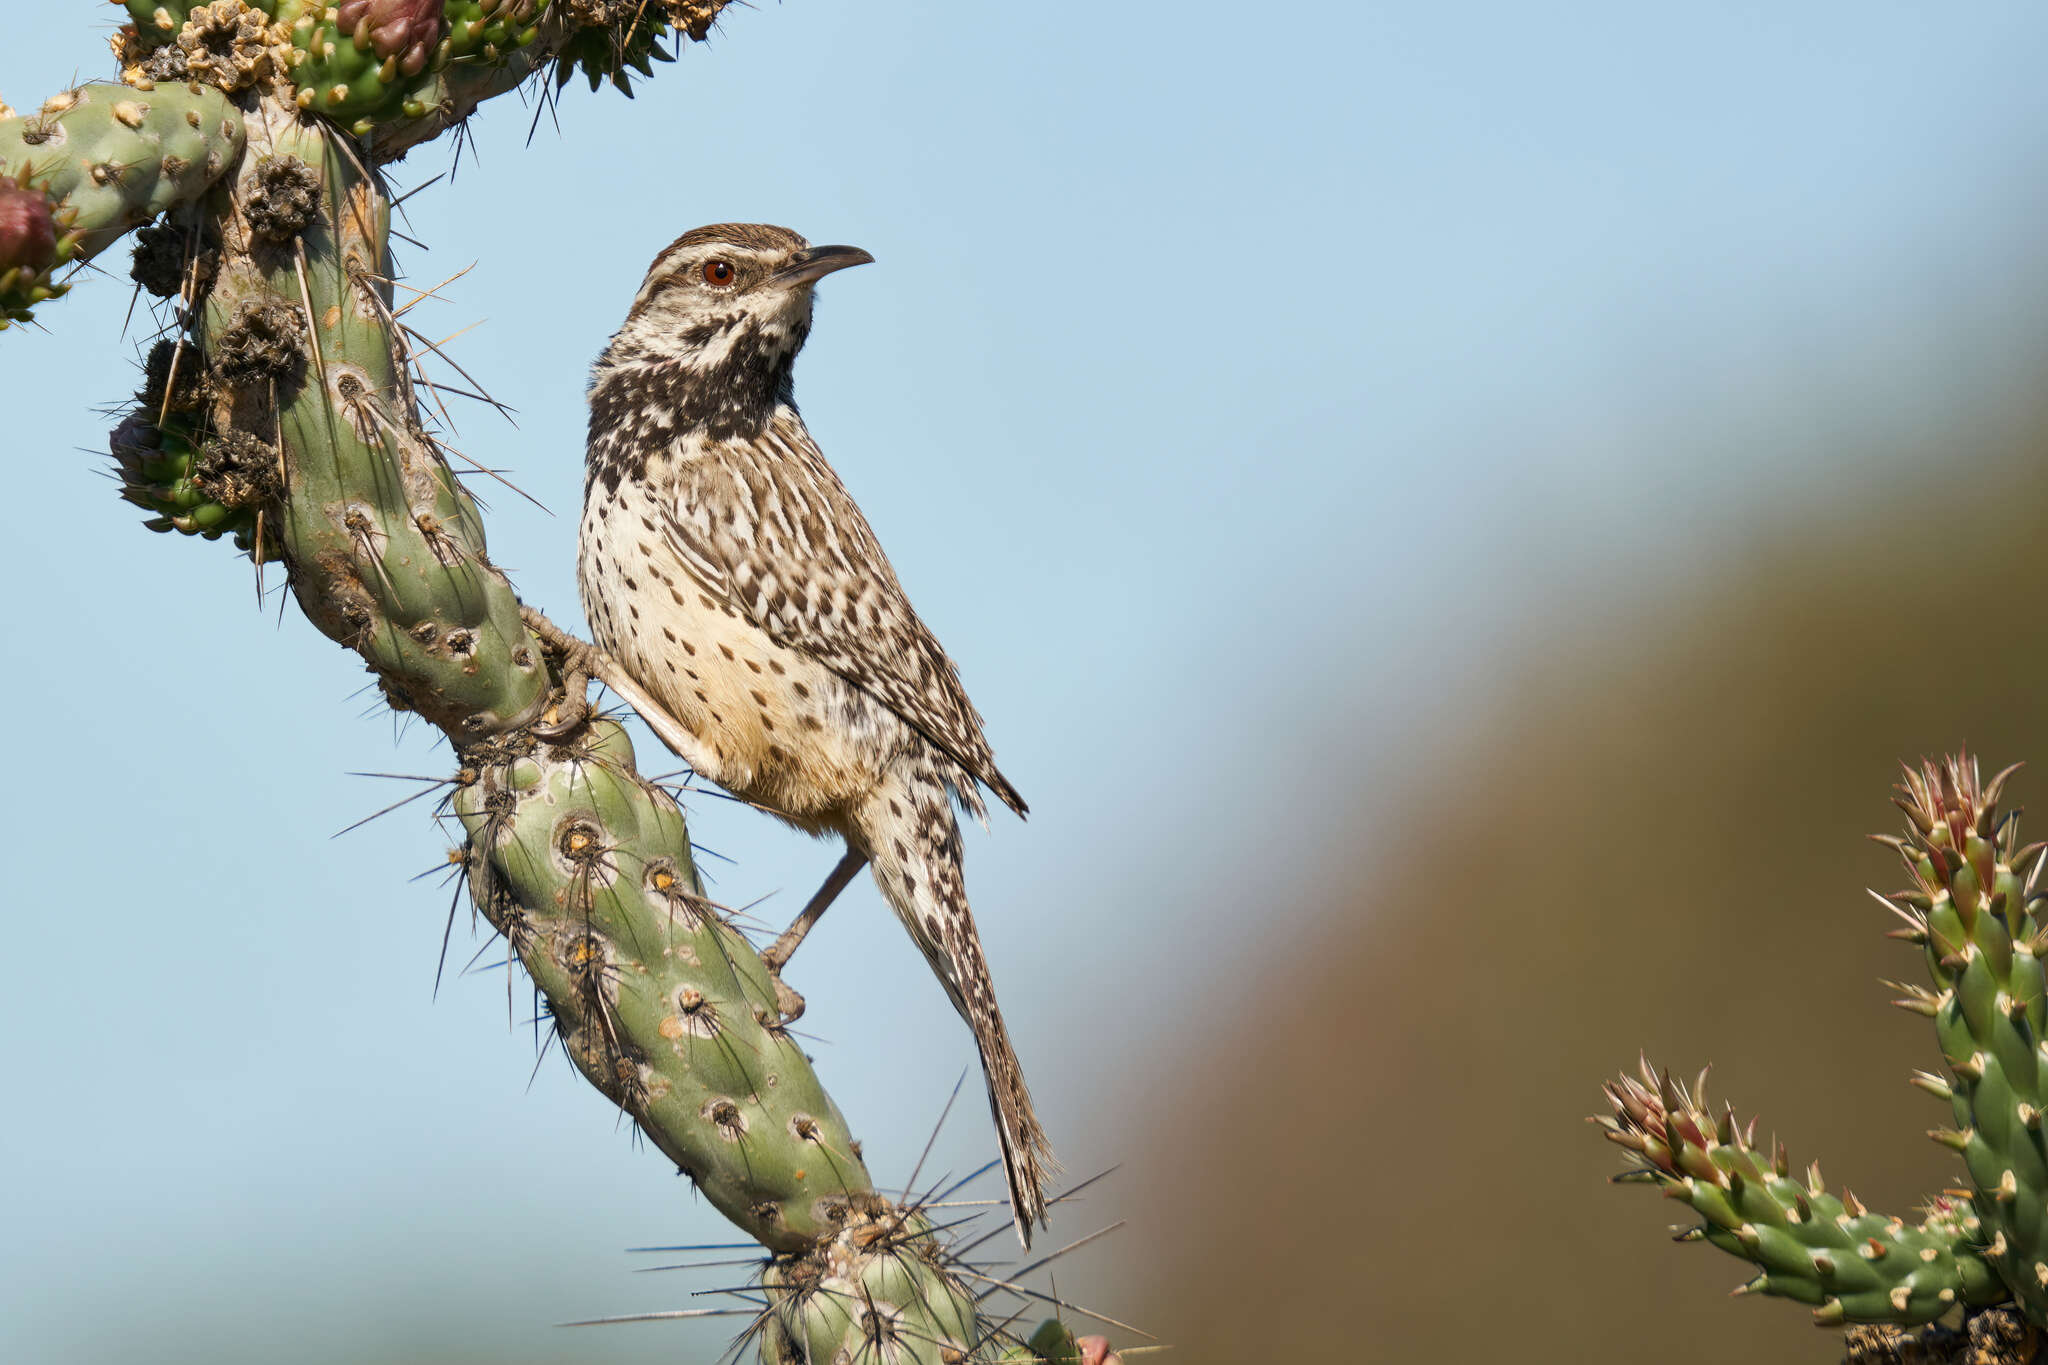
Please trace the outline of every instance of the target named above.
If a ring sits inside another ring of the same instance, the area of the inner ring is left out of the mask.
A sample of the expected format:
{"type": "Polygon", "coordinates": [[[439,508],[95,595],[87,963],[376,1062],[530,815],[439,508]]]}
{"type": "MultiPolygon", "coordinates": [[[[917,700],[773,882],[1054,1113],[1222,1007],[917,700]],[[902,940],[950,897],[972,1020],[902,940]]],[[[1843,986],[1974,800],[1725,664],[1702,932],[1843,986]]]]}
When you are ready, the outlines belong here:
{"type": "Polygon", "coordinates": [[[1831,1195],[1819,1166],[1790,1177],[1786,1152],[1755,1146],[1755,1119],[1735,1121],[1694,1087],[1642,1062],[1640,1076],[1606,1087],[1612,1115],[1593,1121],[1628,1148],[1634,1169],[1616,1177],[1663,1187],[1702,1224],[1681,1240],[1706,1240],[1759,1269],[1743,1285],[1815,1306],[1815,1322],[1933,1322],[1956,1304],[2007,1297],[1987,1263],[1982,1201],[1937,1197],[1919,1226],[1872,1214],[1855,1195],[1831,1195]]]}

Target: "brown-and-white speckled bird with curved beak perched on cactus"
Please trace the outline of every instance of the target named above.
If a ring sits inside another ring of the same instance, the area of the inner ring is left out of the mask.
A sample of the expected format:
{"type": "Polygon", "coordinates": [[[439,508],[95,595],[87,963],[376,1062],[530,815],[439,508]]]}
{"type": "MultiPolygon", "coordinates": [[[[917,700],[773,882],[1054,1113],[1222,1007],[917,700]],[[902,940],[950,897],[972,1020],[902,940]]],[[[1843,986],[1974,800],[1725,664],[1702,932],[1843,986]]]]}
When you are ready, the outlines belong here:
{"type": "MultiPolygon", "coordinates": [[[[1010,1214],[1030,1248],[1057,1171],[967,902],[954,806],[1016,814],[958,667],[797,411],[813,289],[874,258],[786,227],[676,237],[590,370],[578,585],[596,645],[692,772],[846,855],[762,960],[782,968],[870,864],[973,1029],[1010,1214]]],[[[631,698],[629,698],[631,700],[631,698]]]]}

